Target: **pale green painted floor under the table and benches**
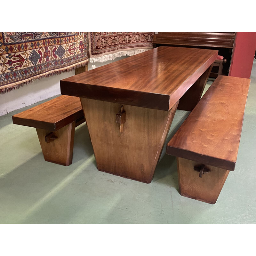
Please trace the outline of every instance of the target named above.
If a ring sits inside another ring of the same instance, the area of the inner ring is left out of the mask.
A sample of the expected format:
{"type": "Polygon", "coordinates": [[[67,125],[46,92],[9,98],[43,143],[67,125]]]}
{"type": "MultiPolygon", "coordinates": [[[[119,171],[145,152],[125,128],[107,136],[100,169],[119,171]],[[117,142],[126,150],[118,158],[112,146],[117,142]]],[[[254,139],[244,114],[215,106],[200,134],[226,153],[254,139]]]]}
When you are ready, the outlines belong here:
{"type": "MultiPolygon", "coordinates": [[[[97,170],[85,124],[65,167],[44,161],[35,128],[12,124],[39,103],[0,116],[0,223],[256,223],[256,60],[251,78],[236,169],[215,205],[180,196],[176,159],[165,149],[144,184],[97,170]]],[[[177,110],[167,141],[187,116],[177,110]]]]}

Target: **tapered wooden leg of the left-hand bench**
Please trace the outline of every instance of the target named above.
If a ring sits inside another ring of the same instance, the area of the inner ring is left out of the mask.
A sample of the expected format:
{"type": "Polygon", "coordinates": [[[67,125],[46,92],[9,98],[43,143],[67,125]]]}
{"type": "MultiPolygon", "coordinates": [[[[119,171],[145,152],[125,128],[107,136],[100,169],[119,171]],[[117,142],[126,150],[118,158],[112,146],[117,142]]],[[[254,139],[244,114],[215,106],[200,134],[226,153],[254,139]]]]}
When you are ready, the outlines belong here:
{"type": "Polygon", "coordinates": [[[75,126],[76,122],[73,122],[54,132],[36,128],[45,161],[66,166],[72,164],[75,126]]]}

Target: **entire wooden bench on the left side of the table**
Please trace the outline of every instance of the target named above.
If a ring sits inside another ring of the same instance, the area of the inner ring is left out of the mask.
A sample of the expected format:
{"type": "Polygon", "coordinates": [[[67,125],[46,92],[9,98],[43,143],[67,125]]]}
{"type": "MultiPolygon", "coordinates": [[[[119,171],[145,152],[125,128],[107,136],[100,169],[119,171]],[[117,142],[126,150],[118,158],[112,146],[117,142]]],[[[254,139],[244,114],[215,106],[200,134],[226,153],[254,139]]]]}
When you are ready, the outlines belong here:
{"type": "Polygon", "coordinates": [[[85,122],[78,97],[62,95],[12,116],[12,122],[36,128],[45,161],[72,164],[75,127],[85,122]]]}

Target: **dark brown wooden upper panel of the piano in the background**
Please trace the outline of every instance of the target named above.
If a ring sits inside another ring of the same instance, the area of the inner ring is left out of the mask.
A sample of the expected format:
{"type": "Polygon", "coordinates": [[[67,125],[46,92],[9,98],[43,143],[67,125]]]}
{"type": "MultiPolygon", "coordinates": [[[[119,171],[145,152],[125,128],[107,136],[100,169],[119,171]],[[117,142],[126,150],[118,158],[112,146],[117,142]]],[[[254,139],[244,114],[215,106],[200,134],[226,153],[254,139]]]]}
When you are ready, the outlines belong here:
{"type": "Polygon", "coordinates": [[[154,44],[232,48],[235,32],[158,32],[154,44]]]}

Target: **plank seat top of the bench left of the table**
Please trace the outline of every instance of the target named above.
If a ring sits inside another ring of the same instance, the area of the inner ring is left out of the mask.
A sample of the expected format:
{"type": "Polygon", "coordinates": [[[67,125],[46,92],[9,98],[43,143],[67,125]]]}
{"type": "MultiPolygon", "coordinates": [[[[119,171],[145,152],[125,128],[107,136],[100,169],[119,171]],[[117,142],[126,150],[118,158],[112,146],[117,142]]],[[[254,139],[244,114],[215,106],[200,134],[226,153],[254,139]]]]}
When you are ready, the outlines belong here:
{"type": "Polygon", "coordinates": [[[61,95],[12,116],[13,124],[57,131],[84,116],[80,99],[61,95]]]}

